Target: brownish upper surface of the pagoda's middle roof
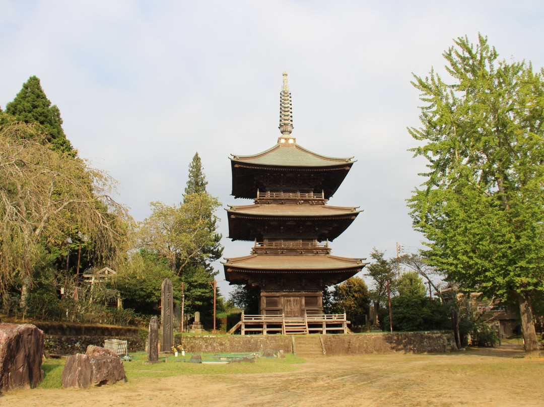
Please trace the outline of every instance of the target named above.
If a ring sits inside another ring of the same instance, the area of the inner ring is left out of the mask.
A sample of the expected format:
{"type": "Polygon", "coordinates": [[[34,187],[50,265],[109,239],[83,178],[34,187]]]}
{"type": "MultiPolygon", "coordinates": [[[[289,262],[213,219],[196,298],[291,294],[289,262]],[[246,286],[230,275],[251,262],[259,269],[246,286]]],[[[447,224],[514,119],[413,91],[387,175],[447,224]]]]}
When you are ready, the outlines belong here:
{"type": "Polygon", "coordinates": [[[273,216],[273,217],[331,217],[335,215],[353,215],[362,212],[357,207],[331,206],[331,205],[278,205],[278,204],[254,204],[231,206],[227,209],[229,214],[273,216]]]}

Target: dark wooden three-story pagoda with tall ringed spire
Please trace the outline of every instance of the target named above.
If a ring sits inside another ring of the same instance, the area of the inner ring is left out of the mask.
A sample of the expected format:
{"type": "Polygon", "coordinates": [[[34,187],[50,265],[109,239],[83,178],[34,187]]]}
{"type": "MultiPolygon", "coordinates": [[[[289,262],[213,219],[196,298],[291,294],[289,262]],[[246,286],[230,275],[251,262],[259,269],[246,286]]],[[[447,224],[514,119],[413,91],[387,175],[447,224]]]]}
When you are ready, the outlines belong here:
{"type": "Polygon", "coordinates": [[[260,315],[323,314],[323,288],[360,272],[364,258],[333,256],[329,242],[362,212],[327,205],[353,157],[326,157],[296,144],[287,72],[280,94],[277,144],[251,156],[233,155],[232,195],[254,204],[230,206],[233,241],[255,242],[249,256],[226,258],[226,280],[260,292],[260,315]]]}

